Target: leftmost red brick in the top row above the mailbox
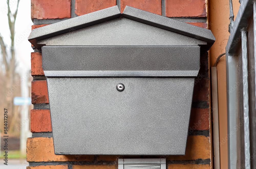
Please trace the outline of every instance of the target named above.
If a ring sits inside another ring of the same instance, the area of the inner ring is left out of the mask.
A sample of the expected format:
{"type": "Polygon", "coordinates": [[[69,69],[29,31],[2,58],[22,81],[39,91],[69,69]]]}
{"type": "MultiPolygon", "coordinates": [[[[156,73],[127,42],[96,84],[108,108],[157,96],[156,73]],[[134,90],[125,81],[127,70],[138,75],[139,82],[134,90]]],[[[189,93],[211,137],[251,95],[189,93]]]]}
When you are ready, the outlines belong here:
{"type": "Polygon", "coordinates": [[[71,18],[71,0],[31,0],[31,18],[71,18]]]}

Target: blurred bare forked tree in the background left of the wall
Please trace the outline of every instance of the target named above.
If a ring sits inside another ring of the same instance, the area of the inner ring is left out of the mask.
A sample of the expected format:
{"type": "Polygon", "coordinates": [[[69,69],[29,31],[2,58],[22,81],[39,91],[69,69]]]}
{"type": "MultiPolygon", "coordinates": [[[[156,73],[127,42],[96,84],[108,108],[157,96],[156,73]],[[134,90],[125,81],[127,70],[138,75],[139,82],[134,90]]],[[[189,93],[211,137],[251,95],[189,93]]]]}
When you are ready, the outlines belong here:
{"type": "MultiPolygon", "coordinates": [[[[18,12],[19,1],[17,0],[17,5],[14,8],[14,12],[11,11],[10,8],[13,9],[13,5],[15,1],[10,3],[7,0],[7,16],[8,16],[8,26],[10,30],[10,44],[6,45],[3,36],[0,32],[0,46],[2,53],[2,62],[0,66],[0,94],[4,96],[1,98],[1,111],[4,108],[8,109],[8,131],[12,132],[14,129],[14,125],[17,124],[16,121],[18,119],[18,107],[13,104],[13,98],[15,96],[20,95],[20,76],[16,73],[16,62],[15,62],[15,51],[14,51],[14,36],[15,36],[15,21],[18,12]],[[3,107],[4,106],[4,107],[3,107]]],[[[2,120],[1,120],[2,123],[2,120]]],[[[18,124],[19,125],[19,124],[18,124]]]]}

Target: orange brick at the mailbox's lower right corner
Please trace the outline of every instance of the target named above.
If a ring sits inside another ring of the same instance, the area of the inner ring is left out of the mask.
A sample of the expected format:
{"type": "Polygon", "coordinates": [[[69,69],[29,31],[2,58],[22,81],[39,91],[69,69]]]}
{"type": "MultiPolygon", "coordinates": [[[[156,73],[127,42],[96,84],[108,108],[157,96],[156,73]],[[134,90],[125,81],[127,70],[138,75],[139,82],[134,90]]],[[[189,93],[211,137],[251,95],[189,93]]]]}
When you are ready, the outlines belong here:
{"type": "Polygon", "coordinates": [[[205,136],[188,136],[185,155],[168,156],[167,160],[197,160],[210,159],[210,138],[205,136]]]}

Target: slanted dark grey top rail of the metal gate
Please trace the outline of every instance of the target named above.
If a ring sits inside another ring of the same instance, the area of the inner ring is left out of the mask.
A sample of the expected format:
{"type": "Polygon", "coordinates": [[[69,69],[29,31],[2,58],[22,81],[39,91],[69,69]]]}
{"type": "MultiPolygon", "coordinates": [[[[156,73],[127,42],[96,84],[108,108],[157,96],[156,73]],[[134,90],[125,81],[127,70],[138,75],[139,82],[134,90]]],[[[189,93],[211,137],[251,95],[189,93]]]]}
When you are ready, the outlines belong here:
{"type": "Polygon", "coordinates": [[[248,20],[253,13],[253,0],[244,0],[240,5],[236,20],[234,21],[234,25],[230,31],[230,36],[228,38],[227,46],[226,46],[226,54],[234,54],[237,49],[240,48],[240,40],[241,40],[241,32],[242,28],[246,28],[248,26],[248,20]]]}

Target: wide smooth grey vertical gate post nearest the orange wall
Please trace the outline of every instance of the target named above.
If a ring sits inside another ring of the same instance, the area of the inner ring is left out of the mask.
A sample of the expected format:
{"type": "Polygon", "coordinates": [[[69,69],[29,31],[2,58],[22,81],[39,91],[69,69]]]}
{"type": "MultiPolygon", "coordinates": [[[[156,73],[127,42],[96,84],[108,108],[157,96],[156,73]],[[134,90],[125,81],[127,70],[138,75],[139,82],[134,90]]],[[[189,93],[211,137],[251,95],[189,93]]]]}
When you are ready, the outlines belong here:
{"type": "Polygon", "coordinates": [[[239,116],[238,99],[238,57],[227,53],[226,49],[226,76],[227,76],[227,120],[228,120],[228,168],[237,169],[237,131],[239,116]]]}

